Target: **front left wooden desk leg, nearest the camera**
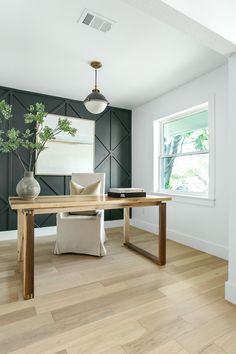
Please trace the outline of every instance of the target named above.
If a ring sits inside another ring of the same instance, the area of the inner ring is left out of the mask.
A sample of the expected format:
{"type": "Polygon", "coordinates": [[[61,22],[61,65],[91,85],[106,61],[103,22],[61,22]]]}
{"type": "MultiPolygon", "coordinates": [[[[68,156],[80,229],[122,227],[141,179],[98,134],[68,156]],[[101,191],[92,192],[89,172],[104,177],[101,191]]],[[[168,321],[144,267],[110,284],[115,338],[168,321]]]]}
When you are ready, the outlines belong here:
{"type": "Polygon", "coordinates": [[[25,300],[34,297],[34,213],[24,213],[24,259],[23,259],[23,297],[25,300]]]}

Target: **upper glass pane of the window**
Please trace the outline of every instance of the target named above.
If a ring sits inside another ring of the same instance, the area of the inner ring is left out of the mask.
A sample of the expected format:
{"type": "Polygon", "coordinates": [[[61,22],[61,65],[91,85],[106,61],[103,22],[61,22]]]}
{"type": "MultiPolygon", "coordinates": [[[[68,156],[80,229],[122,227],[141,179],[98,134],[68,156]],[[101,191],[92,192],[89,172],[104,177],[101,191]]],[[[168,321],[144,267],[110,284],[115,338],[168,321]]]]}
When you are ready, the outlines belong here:
{"type": "Polygon", "coordinates": [[[164,155],[208,150],[208,111],[163,125],[164,155]]]}

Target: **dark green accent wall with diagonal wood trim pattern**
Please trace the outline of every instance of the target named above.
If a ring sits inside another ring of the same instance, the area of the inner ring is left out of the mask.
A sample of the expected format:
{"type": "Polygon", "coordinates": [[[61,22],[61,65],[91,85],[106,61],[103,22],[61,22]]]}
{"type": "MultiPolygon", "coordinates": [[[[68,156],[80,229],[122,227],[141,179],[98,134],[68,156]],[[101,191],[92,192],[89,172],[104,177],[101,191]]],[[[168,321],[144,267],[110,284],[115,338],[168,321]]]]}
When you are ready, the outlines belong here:
{"type": "MultiPolygon", "coordinates": [[[[89,113],[81,101],[0,87],[0,100],[13,106],[12,126],[24,128],[23,115],[30,104],[42,102],[48,113],[95,120],[95,172],[106,173],[110,187],[131,186],[131,111],[108,107],[100,115],[89,113]]],[[[25,152],[27,163],[28,154],[25,152]]],[[[62,161],[62,163],[66,163],[62,161]]],[[[15,154],[0,153],[0,231],[16,229],[16,213],[8,196],[16,195],[16,184],[23,170],[15,154]]],[[[37,176],[42,195],[68,194],[70,177],[37,176]]],[[[106,220],[122,218],[122,210],[106,211],[106,220]]],[[[36,226],[55,225],[55,215],[37,215],[36,226]]]]}

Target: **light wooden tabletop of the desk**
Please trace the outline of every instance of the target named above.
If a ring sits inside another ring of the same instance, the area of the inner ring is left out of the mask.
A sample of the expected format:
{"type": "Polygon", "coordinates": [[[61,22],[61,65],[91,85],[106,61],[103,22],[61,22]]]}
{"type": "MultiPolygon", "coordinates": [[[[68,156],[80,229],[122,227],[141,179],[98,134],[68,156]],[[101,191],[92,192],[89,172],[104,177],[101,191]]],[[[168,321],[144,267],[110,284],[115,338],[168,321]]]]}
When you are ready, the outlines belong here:
{"type": "Polygon", "coordinates": [[[135,198],[112,198],[107,195],[60,195],[60,196],[39,196],[34,200],[24,200],[19,197],[10,197],[9,203],[13,210],[34,210],[38,213],[47,210],[48,212],[66,210],[93,210],[93,209],[119,209],[124,207],[142,207],[158,205],[161,202],[170,201],[170,197],[148,195],[135,198]]]}

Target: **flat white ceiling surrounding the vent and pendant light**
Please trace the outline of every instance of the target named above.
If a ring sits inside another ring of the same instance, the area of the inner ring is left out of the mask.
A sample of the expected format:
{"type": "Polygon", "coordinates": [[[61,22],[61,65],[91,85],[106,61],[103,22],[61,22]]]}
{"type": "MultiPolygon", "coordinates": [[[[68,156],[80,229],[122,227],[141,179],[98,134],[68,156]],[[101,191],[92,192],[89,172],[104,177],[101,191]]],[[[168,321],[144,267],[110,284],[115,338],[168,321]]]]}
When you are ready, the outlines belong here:
{"type": "MultiPolygon", "coordinates": [[[[145,1],[145,0],[143,0],[145,1]]],[[[139,106],[226,62],[186,34],[120,0],[0,0],[0,85],[73,99],[99,88],[112,106],[139,106]],[[116,21],[78,24],[88,8],[116,21]]]]}

